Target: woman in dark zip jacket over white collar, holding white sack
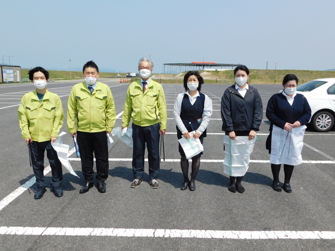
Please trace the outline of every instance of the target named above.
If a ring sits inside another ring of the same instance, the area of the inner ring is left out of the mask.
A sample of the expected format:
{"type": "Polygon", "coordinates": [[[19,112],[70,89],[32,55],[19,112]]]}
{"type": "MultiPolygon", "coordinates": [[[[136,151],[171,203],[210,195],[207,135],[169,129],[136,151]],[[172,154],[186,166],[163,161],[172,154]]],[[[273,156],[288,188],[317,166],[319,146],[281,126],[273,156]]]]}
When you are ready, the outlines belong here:
{"type": "Polygon", "coordinates": [[[257,89],[247,84],[249,69],[240,65],[234,75],[236,83],[224,91],[221,99],[222,131],[226,134],[223,166],[224,173],[230,177],[228,190],[243,193],[241,180],[249,167],[256,132],[263,118],[263,104],[257,89]]]}

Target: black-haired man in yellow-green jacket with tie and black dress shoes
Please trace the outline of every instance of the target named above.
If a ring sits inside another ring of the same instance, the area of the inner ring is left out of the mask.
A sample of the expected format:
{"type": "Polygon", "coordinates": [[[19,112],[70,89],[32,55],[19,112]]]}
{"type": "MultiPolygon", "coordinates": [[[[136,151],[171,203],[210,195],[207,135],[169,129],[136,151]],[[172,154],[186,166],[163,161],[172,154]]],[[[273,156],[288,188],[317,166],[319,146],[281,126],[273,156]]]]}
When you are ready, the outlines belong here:
{"type": "Polygon", "coordinates": [[[97,189],[104,193],[109,168],[106,134],[111,134],[115,124],[115,104],[108,85],[97,81],[99,69],[93,61],[84,65],[83,74],[85,81],[73,86],[67,103],[67,129],[72,137],[77,133],[81,170],[85,178],[85,185],[79,193],[93,187],[93,152],[97,189]]]}

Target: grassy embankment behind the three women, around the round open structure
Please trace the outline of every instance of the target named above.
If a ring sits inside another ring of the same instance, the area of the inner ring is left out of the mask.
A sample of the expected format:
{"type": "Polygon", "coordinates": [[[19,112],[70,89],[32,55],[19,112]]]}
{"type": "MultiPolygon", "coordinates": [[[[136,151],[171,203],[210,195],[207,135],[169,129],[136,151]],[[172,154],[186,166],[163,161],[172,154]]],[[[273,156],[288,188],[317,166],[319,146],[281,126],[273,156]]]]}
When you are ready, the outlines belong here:
{"type": "MultiPolygon", "coordinates": [[[[183,77],[186,72],[179,74],[177,77],[183,77]]],[[[200,71],[204,82],[208,84],[233,84],[234,72],[233,70],[227,71],[200,71]]],[[[311,81],[318,78],[335,78],[335,71],[308,71],[308,70],[258,70],[251,69],[249,81],[250,84],[281,84],[283,78],[287,74],[294,74],[299,79],[299,84],[311,81]]],[[[156,75],[157,76],[157,75],[156,75]]],[[[157,76],[158,77],[158,76],[157,76]]],[[[159,78],[154,78],[155,81],[160,82],[159,78]]],[[[162,79],[162,83],[176,83],[182,84],[183,79],[162,79]]],[[[248,81],[248,83],[249,83],[248,81]]]]}

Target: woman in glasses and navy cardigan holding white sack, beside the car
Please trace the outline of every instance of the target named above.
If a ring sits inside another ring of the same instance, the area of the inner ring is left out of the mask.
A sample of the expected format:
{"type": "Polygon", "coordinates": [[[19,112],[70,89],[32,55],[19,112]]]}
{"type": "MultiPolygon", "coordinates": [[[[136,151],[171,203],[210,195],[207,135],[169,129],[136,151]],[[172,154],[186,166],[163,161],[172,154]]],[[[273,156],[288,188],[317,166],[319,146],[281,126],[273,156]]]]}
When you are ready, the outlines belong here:
{"type": "Polygon", "coordinates": [[[290,193],[293,167],[303,162],[301,151],[305,125],[311,119],[311,107],[303,94],[295,93],[298,78],[294,74],[286,75],[282,85],[284,91],[274,94],[266,107],[266,117],[271,122],[266,149],[271,154],[273,189],[281,192],[279,171],[281,164],[284,164],[283,189],[290,193]]]}

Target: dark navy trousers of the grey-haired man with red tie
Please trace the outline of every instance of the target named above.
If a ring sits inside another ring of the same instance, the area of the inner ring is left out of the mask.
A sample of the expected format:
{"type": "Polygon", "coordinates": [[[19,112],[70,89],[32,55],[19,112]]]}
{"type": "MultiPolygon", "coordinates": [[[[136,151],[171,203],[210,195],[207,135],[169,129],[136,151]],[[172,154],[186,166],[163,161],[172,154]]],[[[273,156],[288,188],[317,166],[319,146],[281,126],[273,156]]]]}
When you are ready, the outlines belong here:
{"type": "Polygon", "coordinates": [[[133,173],[135,179],[144,175],[145,143],[148,149],[149,178],[157,179],[159,175],[159,122],[152,126],[141,127],[132,124],[133,129],[133,173]]]}

